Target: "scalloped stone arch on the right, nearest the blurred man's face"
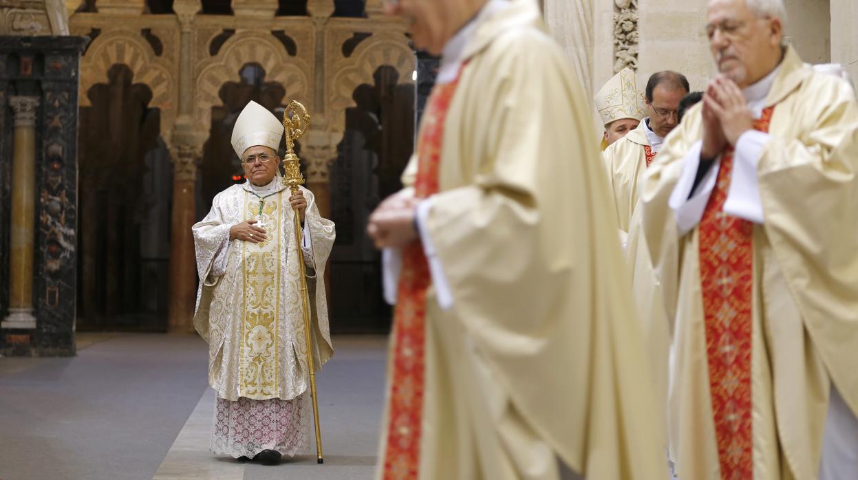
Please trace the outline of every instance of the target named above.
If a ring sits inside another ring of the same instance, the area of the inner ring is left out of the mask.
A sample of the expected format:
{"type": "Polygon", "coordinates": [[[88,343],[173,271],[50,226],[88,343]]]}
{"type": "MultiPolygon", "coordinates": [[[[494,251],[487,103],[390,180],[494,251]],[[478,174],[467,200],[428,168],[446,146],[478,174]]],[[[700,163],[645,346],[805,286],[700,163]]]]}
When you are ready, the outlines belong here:
{"type": "Polygon", "coordinates": [[[401,34],[373,34],[354,50],[351,57],[336,64],[328,87],[330,126],[335,131],[345,129],[346,109],[356,106],[352,98],[355,88],[372,85],[376,71],[385,65],[399,74],[399,84],[413,84],[417,57],[401,34]]]}

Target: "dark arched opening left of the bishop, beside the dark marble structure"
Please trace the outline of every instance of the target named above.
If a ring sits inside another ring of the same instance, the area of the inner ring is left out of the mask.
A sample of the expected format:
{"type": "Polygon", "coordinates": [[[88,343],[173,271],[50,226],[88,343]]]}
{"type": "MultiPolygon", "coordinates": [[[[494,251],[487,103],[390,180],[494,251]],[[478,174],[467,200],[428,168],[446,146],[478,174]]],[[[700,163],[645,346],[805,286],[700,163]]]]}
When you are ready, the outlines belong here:
{"type": "Polygon", "coordinates": [[[113,65],[80,110],[79,330],[166,329],[172,166],[133,76],[113,65]]]}

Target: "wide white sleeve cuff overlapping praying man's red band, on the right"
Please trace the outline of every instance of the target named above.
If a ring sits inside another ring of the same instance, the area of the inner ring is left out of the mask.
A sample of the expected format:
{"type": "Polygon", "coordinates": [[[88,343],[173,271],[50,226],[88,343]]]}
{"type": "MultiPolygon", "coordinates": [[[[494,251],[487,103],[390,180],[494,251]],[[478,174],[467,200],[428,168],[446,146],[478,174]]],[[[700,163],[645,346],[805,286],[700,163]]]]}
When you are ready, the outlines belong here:
{"type": "Polygon", "coordinates": [[[756,224],[763,223],[763,203],[759,197],[757,165],[769,134],[748,130],[736,141],[733,171],[730,173],[730,188],[724,213],[746,219],[756,224]]]}

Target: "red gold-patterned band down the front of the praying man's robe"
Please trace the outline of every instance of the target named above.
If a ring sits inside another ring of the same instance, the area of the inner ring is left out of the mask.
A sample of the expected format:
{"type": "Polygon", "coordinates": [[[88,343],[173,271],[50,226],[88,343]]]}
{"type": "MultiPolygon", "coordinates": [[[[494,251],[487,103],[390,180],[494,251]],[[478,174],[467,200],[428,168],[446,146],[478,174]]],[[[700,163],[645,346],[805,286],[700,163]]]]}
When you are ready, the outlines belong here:
{"type": "MultiPolygon", "coordinates": [[[[753,128],[768,132],[772,111],[753,128]]],[[[729,147],[700,220],[700,285],[721,478],[752,480],[753,224],[724,213],[733,159],[729,147]]]]}

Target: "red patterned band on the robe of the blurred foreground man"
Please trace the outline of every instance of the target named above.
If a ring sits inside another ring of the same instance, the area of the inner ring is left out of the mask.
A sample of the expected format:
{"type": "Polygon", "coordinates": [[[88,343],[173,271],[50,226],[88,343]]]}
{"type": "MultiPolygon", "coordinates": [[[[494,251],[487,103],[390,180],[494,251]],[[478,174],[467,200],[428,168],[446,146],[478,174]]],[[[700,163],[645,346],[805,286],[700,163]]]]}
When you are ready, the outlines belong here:
{"type": "MultiPolygon", "coordinates": [[[[444,120],[457,85],[458,78],[437,85],[426,107],[417,145],[418,169],[414,183],[417,198],[438,192],[444,120]]],[[[402,276],[394,310],[390,406],[384,448],[385,480],[417,478],[420,467],[420,422],[426,369],[426,291],[430,285],[432,277],[423,246],[420,242],[412,243],[402,250],[402,276]]]]}

